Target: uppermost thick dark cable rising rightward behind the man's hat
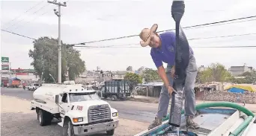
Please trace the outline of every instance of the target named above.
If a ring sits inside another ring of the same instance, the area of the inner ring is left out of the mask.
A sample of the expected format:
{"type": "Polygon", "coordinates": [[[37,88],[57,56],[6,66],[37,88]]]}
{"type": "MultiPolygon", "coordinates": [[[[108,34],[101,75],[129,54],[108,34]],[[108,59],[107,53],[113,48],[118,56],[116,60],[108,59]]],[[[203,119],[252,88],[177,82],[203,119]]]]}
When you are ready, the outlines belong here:
{"type": "MultiPolygon", "coordinates": [[[[201,26],[206,26],[206,25],[216,25],[216,24],[219,24],[219,23],[233,22],[233,21],[237,21],[237,20],[241,20],[241,19],[251,19],[251,18],[255,18],[255,17],[256,16],[247,16],[247,17],[243,17],[243,18],[229,19],[229,20],[224,20],[224,21],[220,21],[220,22],[211,22],[211,23],[206,23],[206,24],[201,24],[201,25],[192,25],[192,26],[189,26],[189,27],[183,27],[183,29],[192,28],[192,27],[201,27],[201,26]]],[[[161,33],[161,32],[170,31],[170,30],[174,30],[174,29],[160,30],[160,31],[157,31],[156,33],[161,33]]],[[[100,39],[100,40],[95,40],[95,41],[91,41],[91,42],[82,42],[82,43],[77,43],[77,44],[72,44],[72,45],[85,45],[87,43],[104,42],[104,41],[110,41],[110,40],[115,40],[115,39],[125,39],[125,38],[129,38],[129,37],[134,37],[134,36],[138,36],[138,34],[130,35],[130,36],[121,36],[121,37],[116,37],[116,38],[111,38],[111,39],[100,39]]]]}

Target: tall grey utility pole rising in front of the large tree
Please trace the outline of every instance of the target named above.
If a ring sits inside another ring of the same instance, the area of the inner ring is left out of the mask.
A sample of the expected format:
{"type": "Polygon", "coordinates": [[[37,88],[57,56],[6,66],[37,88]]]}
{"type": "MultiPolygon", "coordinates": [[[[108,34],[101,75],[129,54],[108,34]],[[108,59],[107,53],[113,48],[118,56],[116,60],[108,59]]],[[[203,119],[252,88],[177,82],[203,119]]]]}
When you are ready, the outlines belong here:
{"type": "Polygon", "coordinates": [[[48,3],[58,5],[58,11],[54,9],[54,13],[58,16],[58,83],[61,83],[61,6],[67,7],[67,4],[66,2],[61,4],[61,2],[57,2],[57,0],[48,1],[48,3]]]}

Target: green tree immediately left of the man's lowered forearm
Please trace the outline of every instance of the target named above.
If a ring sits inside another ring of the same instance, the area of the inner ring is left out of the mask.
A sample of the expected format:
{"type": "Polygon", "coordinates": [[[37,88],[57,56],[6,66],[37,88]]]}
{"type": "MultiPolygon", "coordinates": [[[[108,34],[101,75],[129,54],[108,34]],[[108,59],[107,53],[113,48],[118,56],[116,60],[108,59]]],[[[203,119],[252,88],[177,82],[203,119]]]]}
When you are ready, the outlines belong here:
{"type": "Polygon", "coordinates": [[[147,82],[161,80],[157,71],[153,70],[152,68],[145,68],[145,70],[143,71],[142,77],[147,82]]]}

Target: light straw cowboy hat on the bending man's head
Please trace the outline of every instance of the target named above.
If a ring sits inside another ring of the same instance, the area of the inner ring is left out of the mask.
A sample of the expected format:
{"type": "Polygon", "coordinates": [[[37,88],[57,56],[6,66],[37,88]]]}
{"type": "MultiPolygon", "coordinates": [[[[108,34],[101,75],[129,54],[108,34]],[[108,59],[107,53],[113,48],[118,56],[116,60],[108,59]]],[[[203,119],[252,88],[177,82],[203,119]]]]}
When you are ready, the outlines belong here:
{"type": "Polygon", "coordinates": [[[141,33],[139,33],[139,37],[142,39],[142,41],[140,42],[142,47],[146,47],[150,44],[150,39],[152,38],[153,33],[156,33],[157,27],[158,25],[154,24],[150,29],[144,28],[143,30],[141,30],[141,33]]]}

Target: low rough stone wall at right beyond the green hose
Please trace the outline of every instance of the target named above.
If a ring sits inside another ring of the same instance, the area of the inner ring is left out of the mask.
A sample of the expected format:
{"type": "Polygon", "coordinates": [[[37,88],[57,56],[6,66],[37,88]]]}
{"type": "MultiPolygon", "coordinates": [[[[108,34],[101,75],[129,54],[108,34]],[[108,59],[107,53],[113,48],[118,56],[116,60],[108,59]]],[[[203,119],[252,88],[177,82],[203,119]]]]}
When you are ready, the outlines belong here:
{"type": "Polygon", "coordinates": [[[256,94],[248,92],[245,94],[235,94],[227,91],[204,91],[204,100],[256,104],[256,94]],[[237,100],[238,96],[240,97],[240,102],[237,100]]]}

